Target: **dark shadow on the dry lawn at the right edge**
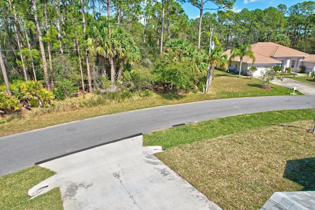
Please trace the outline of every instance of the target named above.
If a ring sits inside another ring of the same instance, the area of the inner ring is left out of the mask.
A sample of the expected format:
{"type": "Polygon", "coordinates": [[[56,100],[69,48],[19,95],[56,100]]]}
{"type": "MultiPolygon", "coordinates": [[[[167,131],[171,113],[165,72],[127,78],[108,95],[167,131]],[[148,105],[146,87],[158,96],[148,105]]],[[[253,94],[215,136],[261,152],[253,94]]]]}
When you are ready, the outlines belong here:
{"type": "Polygon", "coordinates": [[[303,191],[315,190],[315,158],[286,161],[284,178],[302,186],[303,191]]]}

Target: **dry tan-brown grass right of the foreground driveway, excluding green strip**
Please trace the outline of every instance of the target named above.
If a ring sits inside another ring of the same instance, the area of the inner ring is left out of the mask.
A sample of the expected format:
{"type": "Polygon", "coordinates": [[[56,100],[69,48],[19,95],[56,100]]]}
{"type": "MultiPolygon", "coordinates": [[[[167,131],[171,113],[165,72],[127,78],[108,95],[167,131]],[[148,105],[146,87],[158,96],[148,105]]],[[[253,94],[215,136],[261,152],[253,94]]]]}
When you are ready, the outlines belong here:
{"type": "MultiPolygon", "coordinates": [[[[260,209],[276,191],[315,190],[311,122],[242,130],[156,156],[222,209],[260,209]]],[[[212,136],[215,129],[204,128],[212,136]]]]}

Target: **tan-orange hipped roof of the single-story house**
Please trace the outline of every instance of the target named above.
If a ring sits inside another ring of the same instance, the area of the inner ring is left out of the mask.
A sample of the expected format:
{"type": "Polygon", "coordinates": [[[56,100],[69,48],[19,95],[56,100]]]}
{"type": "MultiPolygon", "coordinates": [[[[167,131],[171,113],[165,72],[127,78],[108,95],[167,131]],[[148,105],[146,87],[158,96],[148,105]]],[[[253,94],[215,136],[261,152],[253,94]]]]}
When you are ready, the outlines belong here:
{"type": "MultiPolygon", "coordinates": [[[[298,50],[294,50],[289,47],[285,47],[274,42],[257,42],[252,44],[252,52],[255,56],[255,63],[282,63],[282,61],[277,60],[281,57],[303,57],[307,58],[309,55],[298,50]]],[[[231,50],[224,52],[230,58],[231,50]]],[[[233,61],[240,61],[240,57],[235,57],[231,59],[233,61]]],[[[248,56],[243,58],[243,62],[252,63],[252,59],[248,56]]]]}

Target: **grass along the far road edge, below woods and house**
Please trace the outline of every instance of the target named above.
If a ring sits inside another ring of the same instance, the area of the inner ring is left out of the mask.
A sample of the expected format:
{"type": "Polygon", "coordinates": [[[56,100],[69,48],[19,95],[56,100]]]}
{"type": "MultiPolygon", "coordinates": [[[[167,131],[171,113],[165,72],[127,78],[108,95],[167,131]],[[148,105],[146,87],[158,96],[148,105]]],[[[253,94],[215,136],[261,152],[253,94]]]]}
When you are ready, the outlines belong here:
{"type": "MultiPolygon", "coordinates": [[[[289,89],[271,85],[273,90],[260,90],[260,81],[215,70],[211,90],[208,93],[157,94],[153,91],[112,93],[107,95],[86,94],[57,101],[50,108],[34,108],[23,118],[0,120],[0,137],[43,128],[75,120],[83,120],[131,110],[204,101],[220,98],[290,95],[289,89]]],[[[297,94],[301,94],[297,92],[297,94]]],[[[294,96],[292,96],[294,97],[294,96]]]]}

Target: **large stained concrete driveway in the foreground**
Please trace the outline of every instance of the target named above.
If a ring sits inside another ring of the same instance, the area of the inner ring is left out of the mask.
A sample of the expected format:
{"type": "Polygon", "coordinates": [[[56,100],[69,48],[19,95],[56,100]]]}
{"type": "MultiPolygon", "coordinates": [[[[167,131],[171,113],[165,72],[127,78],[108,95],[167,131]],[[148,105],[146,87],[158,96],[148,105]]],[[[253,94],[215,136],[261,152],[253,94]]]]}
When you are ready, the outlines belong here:
{"type": "Polygon", "coordinates": [[[57,172],[29,190],[60,187],[65,210],[221,210],[142,147],[142,135],[61,157],[40,166],[57,172]]]}

